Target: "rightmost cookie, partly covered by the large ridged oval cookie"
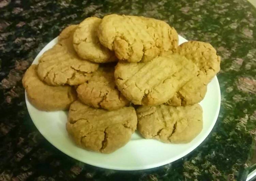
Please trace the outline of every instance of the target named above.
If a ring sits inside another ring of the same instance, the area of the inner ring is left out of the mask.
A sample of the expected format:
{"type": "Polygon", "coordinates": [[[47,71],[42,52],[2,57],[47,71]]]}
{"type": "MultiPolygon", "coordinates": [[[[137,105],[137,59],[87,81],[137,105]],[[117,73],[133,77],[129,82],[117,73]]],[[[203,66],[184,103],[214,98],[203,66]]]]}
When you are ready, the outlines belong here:
{"type": "Polygon", "coordinates": [[[177,48],[176,53],[192,60],[199,71],[197,76],[187,82],[167,104],[193,105],[204,99],[207,84],[220,71],[221,58],[209,43],[197,41],[183,43],[177,48]]]}

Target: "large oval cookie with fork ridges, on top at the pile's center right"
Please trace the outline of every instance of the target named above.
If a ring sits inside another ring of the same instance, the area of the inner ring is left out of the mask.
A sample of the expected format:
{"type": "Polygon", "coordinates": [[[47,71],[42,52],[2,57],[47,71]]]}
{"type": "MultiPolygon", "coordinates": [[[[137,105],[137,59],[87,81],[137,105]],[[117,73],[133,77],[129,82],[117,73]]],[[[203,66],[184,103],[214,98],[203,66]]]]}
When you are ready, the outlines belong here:
{"type": "Polygon", "coordinates": [[[150,62],[118,62],[115,80],[119,91],[134,104],[158,105],[168,101],[191,78],[197,66],[178,54],[150,62]]]}

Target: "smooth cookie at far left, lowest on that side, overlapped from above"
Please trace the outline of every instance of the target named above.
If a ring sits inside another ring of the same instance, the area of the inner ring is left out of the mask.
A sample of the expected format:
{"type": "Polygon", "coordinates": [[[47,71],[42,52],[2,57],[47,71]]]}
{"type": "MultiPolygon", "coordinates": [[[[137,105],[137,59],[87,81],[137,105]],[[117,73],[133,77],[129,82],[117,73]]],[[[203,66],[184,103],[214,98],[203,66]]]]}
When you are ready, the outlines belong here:
{"type": "Polygon", "coordinates": [[[71,86],[49,86],[42,82],[36,73],[37,65],[31,65],[22,78],[29,102],[42,111],[58,111],[69,109],[76,99],[75,90],[71,86]]]}

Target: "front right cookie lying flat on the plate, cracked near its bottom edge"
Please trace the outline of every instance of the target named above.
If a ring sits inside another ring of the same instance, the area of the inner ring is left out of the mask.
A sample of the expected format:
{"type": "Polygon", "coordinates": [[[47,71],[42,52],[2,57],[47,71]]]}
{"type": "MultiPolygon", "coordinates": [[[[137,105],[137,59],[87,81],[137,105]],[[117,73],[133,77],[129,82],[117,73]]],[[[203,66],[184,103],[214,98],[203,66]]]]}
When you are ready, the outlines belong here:
{"type": "Polygon", "coordinates": [[[202,130],[202,108],[191,106],[140,106],[137,110],[138,130],[147,139],[166,143],[189,143],[202,130]]]}

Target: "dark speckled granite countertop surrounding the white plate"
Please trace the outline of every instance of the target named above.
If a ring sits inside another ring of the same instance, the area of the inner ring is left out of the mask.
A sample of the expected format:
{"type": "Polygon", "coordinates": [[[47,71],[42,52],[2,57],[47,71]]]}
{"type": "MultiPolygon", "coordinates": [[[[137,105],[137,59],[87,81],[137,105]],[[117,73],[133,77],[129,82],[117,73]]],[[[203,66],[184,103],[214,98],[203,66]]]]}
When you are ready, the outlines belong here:
{"type": "Polygon", "coordinates": [[[244,180],[256,162],[255,24],[246,0],[1,0],[0,180],[244,180]],[[222,57],[219,118],[182,159],[141,171],[96,168],[48,143],[29,117],[21,78],[36,54],[67,25],[110,13],[162,19],[222,57]]]}

